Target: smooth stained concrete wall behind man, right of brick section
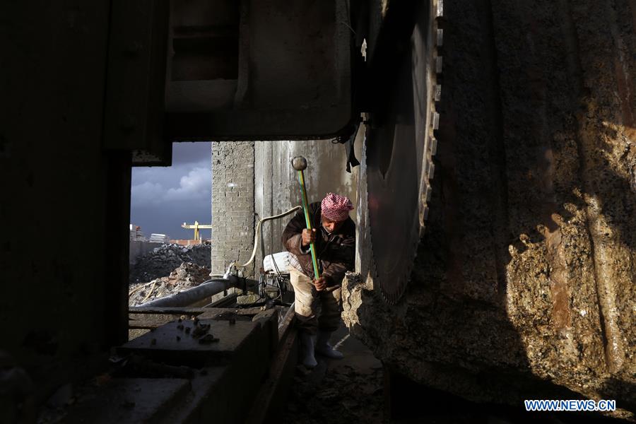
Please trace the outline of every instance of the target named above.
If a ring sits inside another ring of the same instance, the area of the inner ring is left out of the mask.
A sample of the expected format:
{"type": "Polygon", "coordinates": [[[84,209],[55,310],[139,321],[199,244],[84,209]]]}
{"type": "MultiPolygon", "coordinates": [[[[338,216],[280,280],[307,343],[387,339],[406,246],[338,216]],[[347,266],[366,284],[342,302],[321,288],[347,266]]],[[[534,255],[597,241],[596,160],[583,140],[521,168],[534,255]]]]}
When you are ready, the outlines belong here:
{"type": "MultiPolygon", "coordinates": [[[[357,157],[360,158],[362,143],[356,141],[357,157]]],[[[311,203],[320,201],[328,192],[348,196],[355,204],[358,194],[357,172],[346,172],[346,151],[343,145],[329,140],[307,141],[255,141],[254,142],[254,212],[260,218],[276,215],[302,204],[298,175],[291,167],[291,160],[302,155],[307,158],[305,185],[307,199],[311,203]]],[[[272,220],[263,226],[264,253],[283,251],[281,234],[291,216],[272,220]]],[[[355,213],[351,213],[355,220],[355,213]]],[[[257,251],[258,267],[262,266],[263,254],[257,251]]],[[[257,268],[258,269],[258,268],[257,268]]]]}

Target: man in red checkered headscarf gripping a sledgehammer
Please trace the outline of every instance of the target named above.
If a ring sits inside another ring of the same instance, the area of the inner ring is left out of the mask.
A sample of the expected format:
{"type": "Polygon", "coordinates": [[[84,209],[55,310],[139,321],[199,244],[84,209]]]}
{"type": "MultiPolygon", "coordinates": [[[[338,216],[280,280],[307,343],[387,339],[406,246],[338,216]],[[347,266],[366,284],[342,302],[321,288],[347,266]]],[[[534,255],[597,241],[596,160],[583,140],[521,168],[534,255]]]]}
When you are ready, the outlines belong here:
{"type": "Polygon", "coordinates": [[[307,229],[303,211],[298,211],[283,231],[283,245],[290,252],[290,281],[295,293],[295,314],[300,337],[301,363],[317,365],[315,353],[342,358],[330,344],[340,326],[341,283],[346,271],[353,271],[355,223],[353,209],[345,196],[329,193],[322,202],[308,207],[312,230],[307,229]],[[314,242],[319,278],[314,278],[310,243],[314,242]]]}

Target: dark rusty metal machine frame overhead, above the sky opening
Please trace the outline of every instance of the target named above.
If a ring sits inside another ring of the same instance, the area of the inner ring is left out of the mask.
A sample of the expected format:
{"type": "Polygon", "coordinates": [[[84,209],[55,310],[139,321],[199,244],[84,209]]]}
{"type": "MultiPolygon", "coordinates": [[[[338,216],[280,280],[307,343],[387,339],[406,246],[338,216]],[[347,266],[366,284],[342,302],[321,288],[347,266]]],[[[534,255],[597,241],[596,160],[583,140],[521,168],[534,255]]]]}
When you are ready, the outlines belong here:
{"type": "Polygon", "coordinates": [[[348,0],[113,0],[104,147],[170,165],[172,141],[352,131],[349,16],[348,0]]]}

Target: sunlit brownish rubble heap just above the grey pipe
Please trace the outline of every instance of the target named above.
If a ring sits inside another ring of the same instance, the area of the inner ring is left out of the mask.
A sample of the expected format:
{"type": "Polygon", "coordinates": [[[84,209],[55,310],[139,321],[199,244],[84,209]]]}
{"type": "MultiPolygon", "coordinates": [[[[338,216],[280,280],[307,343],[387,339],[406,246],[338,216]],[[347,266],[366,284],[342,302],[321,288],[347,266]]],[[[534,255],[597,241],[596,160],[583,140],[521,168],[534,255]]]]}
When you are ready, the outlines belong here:
{"type": "Polygon", "coordinates": [[[210,269],[192,262],[183,262],[167,277],[155,278],[148,283],[136,283],[129,288],[129,306],[138,306],[151,300],[170,296],[203,283],[210,278],[210,269]]]}

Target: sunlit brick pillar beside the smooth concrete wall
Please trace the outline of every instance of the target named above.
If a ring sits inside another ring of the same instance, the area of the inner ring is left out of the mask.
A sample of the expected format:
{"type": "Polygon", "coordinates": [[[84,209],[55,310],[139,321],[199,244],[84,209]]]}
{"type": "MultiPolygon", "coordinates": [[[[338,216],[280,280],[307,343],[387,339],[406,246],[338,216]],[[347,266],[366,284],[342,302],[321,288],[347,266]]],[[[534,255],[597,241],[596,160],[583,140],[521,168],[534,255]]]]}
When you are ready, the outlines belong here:
{"type": "MultiPolygon", "coordinates": [[[[212,273],[247,262],[254,247],[254,142],[212,142],[212,273]]],[[[247,268],[254,275],[254,266],[247,268]]]]}

